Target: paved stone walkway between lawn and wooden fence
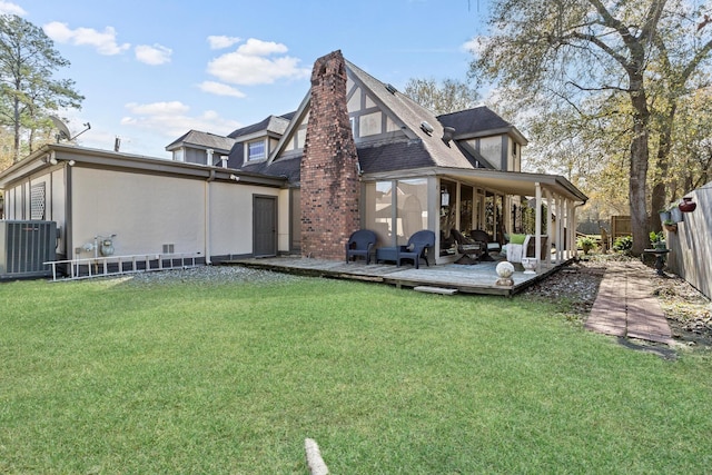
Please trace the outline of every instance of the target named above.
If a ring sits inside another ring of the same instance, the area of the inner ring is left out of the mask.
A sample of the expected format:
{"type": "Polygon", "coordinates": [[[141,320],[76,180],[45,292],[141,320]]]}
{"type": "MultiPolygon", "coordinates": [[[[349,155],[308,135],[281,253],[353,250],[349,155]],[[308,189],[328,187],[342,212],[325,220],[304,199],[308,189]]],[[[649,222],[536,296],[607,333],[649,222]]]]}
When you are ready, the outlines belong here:
{"type": "Polygon", "coordinates": [[[640,263],[609,263],[585,328],[671,344],[670,325],[652,294],[653,273],[640,263]]]}

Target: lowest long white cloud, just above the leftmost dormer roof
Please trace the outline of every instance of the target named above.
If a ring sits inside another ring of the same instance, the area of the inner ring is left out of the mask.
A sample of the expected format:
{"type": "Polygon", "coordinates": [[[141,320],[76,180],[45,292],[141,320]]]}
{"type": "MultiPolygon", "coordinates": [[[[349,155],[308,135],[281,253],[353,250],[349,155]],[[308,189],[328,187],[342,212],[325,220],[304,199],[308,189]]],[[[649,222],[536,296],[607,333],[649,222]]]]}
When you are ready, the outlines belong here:
{"type": "Polygon", "coordinates": [[[180,101],[129,102],[126,108],[130,116],[121,119],[122,126],[150,130],[170,139],[177,139],[190,129],[227,135],[241,127],[239,122],[224,119],[214,110],[192,116],[189,113],[190,107],[180,101]]]}

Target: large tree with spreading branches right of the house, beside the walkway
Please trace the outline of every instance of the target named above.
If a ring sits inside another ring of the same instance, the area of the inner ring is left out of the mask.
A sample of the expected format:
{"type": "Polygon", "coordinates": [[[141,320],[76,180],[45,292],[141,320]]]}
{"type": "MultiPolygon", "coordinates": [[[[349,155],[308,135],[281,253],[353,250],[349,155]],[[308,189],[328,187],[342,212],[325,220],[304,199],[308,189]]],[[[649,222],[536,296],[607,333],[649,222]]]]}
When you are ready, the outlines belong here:
{"type": "Polygon", "coordinates": [[[498,81],[522,105],[625,119],[613,136],[627,144],[634,254],[649,244],[649,208],[656,212],[665,200],[662,179],[647,199],[651,145],[654,164],[664,169],[680,101],[708,66],[709,10],[684,0],[494,0],[491,36],[481,39],[472,62],[473,76],[498,81]]]}

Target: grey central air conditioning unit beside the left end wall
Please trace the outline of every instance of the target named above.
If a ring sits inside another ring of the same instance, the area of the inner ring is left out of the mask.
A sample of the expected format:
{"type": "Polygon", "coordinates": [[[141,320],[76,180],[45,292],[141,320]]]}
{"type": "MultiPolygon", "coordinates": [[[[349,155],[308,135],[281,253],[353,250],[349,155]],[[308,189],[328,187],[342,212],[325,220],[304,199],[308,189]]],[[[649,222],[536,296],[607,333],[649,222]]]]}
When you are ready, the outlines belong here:
{"type": "Polygon", "coordinates": [[[56,249],[57,222],[0,221],[0,279],[50,277],[56,249]]]}

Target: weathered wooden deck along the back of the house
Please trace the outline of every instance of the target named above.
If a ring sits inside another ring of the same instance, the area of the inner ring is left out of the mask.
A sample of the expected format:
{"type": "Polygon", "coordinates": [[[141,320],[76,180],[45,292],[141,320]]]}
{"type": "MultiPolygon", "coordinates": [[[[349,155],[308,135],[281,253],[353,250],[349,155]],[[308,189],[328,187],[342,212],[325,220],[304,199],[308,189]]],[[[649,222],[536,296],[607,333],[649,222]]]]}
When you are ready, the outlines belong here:
{"type": "Polygon", "coordinates": [[[312,277],[328,277],[338,279],[363,280],[400,287],[441,288],[452,294],[485,294],[512,296],[526,287],[546,278],[557,270],[555,265],[542,268],[537,274],[524,274],[521,265],[512,279],[513,286],[497,286],[495,266],[497,261],[478,263],[475,265],[447,264],[427,267],[425,263],[416,269],[412,265],[397,267],[393,264],[369,264],[363,260],[346,264],[343,260],[312,259],[306,257],[268,257],[245,258],[221,263],[250,268],[268,269],[280,273],[298,274],[312,277]]]}

